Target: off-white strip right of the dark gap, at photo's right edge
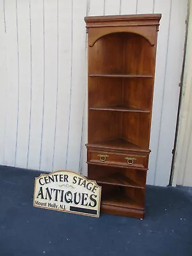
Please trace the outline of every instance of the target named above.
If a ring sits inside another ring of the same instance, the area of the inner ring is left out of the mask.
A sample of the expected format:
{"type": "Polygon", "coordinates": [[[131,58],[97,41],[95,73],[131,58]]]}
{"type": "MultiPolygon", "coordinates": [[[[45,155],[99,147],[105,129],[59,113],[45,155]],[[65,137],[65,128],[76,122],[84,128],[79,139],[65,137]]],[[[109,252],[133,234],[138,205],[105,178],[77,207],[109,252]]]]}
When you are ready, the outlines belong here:
{"type": "Polygon", "coordinates": [[[192,187],[192,1],[189,1],[188,41],[180,104],[179,131],[175,154],[173,186],[192,187]]]}

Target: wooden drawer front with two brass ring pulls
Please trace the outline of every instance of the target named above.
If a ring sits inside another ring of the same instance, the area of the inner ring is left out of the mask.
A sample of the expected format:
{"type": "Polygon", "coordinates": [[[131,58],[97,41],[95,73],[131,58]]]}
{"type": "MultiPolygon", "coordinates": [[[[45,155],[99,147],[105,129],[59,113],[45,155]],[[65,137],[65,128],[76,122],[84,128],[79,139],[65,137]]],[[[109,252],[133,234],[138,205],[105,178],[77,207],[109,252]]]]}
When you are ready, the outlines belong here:
{"type": "Polygon", "coordinates": [[[120,154],[88,150],[88,163],[147,168],[148,155],[141,156],[139,154],[120,154]]]}

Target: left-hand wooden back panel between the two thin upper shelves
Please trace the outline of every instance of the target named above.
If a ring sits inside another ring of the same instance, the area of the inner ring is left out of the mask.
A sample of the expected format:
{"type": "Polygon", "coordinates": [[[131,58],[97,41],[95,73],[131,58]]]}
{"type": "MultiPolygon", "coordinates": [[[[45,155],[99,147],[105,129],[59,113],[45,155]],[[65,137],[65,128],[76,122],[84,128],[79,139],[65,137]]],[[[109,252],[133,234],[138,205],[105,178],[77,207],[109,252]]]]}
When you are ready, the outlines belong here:
{"type": "Polygon", "coordinates": [[[89,77],[89,108],[122,104],[122,79],[89,77]]]}

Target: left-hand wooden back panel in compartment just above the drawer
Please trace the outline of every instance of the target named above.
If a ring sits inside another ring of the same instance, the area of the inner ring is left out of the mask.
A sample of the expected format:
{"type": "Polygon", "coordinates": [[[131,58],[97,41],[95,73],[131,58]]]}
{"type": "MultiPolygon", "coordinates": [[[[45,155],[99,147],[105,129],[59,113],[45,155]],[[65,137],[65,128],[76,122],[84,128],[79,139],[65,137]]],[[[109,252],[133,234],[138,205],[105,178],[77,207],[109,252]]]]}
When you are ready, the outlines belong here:
{"type": "Polygon", "coordinates": [[[121,113],[113,111],[89,111],[88,143],[120,138],[121,113]]]}

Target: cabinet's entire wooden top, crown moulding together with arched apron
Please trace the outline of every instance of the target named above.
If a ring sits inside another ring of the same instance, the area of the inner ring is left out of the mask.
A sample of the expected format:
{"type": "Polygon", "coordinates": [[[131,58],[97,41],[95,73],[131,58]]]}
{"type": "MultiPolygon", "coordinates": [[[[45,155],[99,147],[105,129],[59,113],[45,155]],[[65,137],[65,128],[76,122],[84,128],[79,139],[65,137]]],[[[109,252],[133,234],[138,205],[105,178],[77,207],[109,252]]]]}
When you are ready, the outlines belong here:
{"type": "Polygon", "coordinates": [[[116,32],[134,33],[145,37],[150,45],[156,45],[161,14],[116,15],[85,17],[88,45],[93,46],[99,38],[116,32]]]}

